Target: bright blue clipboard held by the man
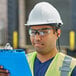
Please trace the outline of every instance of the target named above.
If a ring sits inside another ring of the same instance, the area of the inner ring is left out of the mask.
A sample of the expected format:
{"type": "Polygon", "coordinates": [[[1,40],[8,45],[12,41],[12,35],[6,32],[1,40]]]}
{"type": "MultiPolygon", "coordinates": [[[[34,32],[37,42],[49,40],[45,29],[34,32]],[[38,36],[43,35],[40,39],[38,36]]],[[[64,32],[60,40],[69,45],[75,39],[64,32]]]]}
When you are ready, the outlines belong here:
{"type": "Polygon", "coordinates": [[[32,76],[22,49],[0,49],[0,65],[10,72],[10,76],[32,76]]]}

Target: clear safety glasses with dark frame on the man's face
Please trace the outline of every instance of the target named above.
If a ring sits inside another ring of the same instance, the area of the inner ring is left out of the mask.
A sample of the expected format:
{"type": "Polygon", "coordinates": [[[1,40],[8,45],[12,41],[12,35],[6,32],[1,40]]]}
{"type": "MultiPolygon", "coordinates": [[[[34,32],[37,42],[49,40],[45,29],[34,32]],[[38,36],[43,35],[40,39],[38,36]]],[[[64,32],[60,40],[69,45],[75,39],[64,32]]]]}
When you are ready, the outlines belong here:
{"type": "Polygon", "coordinates": [[[36,34],[40,36],[45,36],[50,33],[50,30],[53,28],[41,28],[41,29],[29,29],[29,35],[30,36],[35,36],[36,34]]]}

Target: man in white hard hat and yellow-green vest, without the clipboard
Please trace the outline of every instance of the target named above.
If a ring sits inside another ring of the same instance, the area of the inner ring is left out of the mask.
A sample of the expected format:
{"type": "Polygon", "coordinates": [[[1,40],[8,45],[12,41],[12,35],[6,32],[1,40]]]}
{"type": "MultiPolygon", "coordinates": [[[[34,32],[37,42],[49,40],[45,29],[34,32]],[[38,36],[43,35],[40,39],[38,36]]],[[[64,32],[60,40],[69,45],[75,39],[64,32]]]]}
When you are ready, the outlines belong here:
{"type": "Polygon", "coordinates": [[[32,76],[76,76],[76,60],[56,48],[63,25],[58,11],[48,2],[32,9],[26,26],[36,52],[28,54],[32,76]]]}

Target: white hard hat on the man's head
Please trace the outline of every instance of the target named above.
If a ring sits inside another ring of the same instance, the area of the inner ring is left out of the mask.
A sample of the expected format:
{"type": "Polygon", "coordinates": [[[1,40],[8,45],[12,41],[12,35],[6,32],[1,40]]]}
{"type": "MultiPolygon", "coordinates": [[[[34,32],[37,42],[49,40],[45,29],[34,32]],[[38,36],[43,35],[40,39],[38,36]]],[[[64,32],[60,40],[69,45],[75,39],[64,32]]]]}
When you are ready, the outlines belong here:
{"type": "Polygon", "coordinates": [[[48,2],[40,2],[34,6],[29,14],[28,26],[44,24],[63,24],[59,12],[48,2]]]}

